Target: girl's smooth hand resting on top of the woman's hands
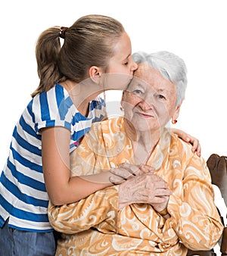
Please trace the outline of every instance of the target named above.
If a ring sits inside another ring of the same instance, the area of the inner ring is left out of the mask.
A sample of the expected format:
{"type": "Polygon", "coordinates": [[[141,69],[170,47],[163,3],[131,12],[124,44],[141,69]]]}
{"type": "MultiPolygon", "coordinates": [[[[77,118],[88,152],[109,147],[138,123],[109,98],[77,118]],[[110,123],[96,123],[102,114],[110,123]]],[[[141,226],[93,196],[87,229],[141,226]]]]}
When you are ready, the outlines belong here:
{"type": "Polygon", "coordinates": [[[115,185],[119,185],[134,176],[138,176],[143,173],[154,173],[154,168],[148,165],[134,165],[125,163],[120,164],[120,167],[118,168],[111,168],[110,173],[113,174],[113,176],[110,176],[110,182],[115,185]]]}

